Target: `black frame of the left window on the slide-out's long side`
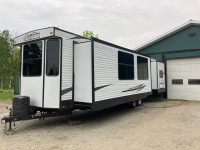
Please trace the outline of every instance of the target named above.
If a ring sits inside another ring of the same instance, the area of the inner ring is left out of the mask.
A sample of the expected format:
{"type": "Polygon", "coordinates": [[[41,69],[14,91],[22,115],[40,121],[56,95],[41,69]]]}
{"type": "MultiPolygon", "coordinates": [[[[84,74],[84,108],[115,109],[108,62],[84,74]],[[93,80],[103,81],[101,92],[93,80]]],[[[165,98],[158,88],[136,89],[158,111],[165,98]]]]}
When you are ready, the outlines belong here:
{"type": "Polygon", "coordinates": [[[127,52],[124,52],[124,51],[118,51],[118,80],[135,80],[135,62],[134,62],[134,60],[135,60],[135,58],[134,58],[134,54],[131,54],[131,53],[127,53],[127,52]],[[133,58],[133,64],[132,65],[130,65],[130,64],[122,64],[122,63],[119,63],[119,54],[120,53],[125,53],[125,54],[128,54],[128,55],[132,55],[132,58],[133,58]],[[132,69],[133,69],[133,74],[132,74],[132,76],[133,76],[133,78],[126,78],[126,79],[121,79],[120,78],[120,75],[119,75],[119,65],[126,65],[126,66],[132,66],[132,69]]]}

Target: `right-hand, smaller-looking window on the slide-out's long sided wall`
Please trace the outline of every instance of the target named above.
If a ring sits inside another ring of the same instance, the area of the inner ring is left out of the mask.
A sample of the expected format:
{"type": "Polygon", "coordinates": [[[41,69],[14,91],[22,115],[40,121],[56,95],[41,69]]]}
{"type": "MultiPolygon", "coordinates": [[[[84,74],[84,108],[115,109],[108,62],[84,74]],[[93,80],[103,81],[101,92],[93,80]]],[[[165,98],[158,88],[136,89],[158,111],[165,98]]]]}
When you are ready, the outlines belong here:
{"type": "Polygon", "coordinates": [[[148,59],[137,57],[138,80],[148,80],[148,59]]]}

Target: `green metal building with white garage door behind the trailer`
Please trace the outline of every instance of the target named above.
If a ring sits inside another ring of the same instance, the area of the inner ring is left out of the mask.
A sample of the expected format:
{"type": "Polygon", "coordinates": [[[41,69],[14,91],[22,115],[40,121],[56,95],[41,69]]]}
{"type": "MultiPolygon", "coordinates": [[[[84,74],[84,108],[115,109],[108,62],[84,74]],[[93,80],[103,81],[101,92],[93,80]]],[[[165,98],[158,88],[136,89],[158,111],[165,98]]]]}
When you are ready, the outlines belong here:
{"type": "Polygon", "coordinates": [[[190,20],[135,48],[165,62],[167,98],[200,100],[200,22],[190,20]]]}

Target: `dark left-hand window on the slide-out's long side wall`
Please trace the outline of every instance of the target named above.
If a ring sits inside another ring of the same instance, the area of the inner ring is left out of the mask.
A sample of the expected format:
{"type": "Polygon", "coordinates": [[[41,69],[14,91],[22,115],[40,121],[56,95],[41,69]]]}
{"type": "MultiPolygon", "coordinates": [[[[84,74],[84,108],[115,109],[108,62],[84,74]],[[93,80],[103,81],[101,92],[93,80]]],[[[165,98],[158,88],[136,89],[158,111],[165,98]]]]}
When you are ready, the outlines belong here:
{"type": "Polygon", "coordinates": [[[134,79],[134,58],[132,54],[118,52],[118,78],[119,80],[134,79]]]}

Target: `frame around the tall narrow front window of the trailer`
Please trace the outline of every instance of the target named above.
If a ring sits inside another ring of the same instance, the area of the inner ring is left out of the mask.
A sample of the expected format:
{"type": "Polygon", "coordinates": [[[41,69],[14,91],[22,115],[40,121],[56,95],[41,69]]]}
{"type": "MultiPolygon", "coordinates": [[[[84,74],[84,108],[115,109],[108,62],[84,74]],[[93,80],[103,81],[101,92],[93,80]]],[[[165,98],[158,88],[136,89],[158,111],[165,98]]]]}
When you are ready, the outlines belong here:
{"type": "Polygon", "coordinates": [[[45,75],[48,76],[48,77],[57,77],[60,75],[60,59],[61,59],[61,40],[59,38],[52,38],[52,39],[47,39],[46,40],[46,51],[45,51],[45,75]],[[48,49],[48,41],[51,41],[51,40],[58,40],[59,42],[59,48],[58,48],[58,74],[57,75],[48,75],[47,74],[47,49],[48,49]]]}

